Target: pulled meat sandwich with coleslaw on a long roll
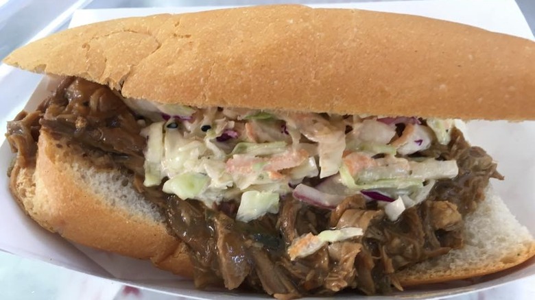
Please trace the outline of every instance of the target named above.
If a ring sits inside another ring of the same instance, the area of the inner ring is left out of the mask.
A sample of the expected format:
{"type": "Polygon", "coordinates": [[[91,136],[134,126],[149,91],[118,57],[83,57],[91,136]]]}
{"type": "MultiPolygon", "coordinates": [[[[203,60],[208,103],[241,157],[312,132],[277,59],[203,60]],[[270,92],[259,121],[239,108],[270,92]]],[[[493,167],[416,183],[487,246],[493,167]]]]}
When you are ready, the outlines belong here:
{"type": "Polygon", "coordinates": [[[535,241],[461,120],[534,119],[534,61],[522,38],[300,5],[68,29],[4,60],[53,86],[8,123],[10,189],[45,229],[198,288],[375,295],[495,273],[535,241]]]}

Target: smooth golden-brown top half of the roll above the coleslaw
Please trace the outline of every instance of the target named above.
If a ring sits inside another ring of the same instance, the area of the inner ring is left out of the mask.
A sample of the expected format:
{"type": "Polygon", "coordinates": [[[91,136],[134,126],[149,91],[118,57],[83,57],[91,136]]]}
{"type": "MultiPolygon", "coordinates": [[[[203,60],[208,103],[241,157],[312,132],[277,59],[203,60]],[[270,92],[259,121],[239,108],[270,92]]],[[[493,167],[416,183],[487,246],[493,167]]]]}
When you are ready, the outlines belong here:
{"type": "Polygon", "coordinates": [[[160,103],[535,119],[535,42],[404,14],[268,5],[123,18],[4,62],[160,103]]]}

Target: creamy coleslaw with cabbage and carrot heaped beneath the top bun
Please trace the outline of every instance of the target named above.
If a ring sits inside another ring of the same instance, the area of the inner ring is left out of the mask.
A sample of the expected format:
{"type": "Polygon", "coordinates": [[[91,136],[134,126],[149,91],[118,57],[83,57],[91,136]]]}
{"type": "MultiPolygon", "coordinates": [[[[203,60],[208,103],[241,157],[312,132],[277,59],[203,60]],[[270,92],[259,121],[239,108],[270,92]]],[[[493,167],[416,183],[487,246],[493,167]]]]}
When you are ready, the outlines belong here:
{"type": "Polygon", "coordinates": [[[241,202],[239,221],[278,212],[278,199],[313,177],[324,181],[305,188],[309,198],[314,191],[343,199],[378,190],[399,199],[395,211],[401,214],[423,200],[432,180],[458,172],[455,161],[407,158],[433,140],[449,142],[453,120],[422,125],[416,118],[126,103],[154,121],[142,132],[148,140],[144,184],[158,186],[167,177],[163,190],[180,199],[208,207],[241,202]],[[401,136],[399,123],[405,126],[401,136]]]}

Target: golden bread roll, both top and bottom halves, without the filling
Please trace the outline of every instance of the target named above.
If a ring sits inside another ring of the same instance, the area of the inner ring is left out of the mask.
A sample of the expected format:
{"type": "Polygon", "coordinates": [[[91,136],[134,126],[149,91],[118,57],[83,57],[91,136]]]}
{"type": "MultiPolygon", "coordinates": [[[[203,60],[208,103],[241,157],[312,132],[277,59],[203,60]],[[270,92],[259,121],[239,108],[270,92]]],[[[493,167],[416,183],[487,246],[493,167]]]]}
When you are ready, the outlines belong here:
{"type": "MultiPolygon", "coordinates": [[[[534,42],[403,14],[284,5],[125,18],[32,42],[4,62],[152,103],[535,119],[534,42]]],[[[191,277],[186,246],[127,175],[97,171],[72,147],[41,132],[36,165],[14,167],[10,188],[27,214],[73,242],[191,277]]],[[[463,279],[532,257],[528,230],[492,190],[486,198],[466,218],[466,247],[401,271],[400,282],[463,279]]]]}

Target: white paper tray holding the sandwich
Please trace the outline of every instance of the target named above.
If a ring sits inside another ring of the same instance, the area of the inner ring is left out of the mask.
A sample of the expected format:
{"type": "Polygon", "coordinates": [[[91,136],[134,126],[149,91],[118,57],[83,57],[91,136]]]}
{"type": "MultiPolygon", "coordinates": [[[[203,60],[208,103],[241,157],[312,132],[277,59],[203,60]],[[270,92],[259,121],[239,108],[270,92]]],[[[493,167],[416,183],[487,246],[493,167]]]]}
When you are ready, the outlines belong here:
{"type": "MultiPolygon", "coordinates": [[[[316,5],[324,7],[363,8],[385,12],[401,12],[417,14],[433,18],[441,18],[459,23],[466,23],[489,29],[533,39],[514,0],[441,0],[441,1],[397,1],[381,3],[352,3],[344,5],[316,5]]],[[[71,27],[104,21],[124,16],[143,16],[157,13],[194,12],[215,8],[152,8],[152,9],[112,9],[112,10],[79,10],[75,12],[71,27]]],[[[10,73],[9,76],[20,76],[21,72],[10,73]]],[[[10,80],[0,77],[0,80],[10,80]]],[[[12,80],[12,79],[11,79],[12,80]]],[[[28,109],[47,94],[47,82],[43,81],[29,99],[28,109]]],[[[3,99],[10,101],[10,99],[3,99]]],[[[0,108],[1,118],[12,116],[16,103],[6,105],[9,109],[0,108]]],[[[534,234],[535,220],[535,122],[506,123],[503,121],[473,121],[468,124],[468,132],[473,145],[483,147],[499,162],[499,171],[506,176],[506,181],[495,182],[495,190],[506,199],[510,210],[519,221],[526,225],[534,234]]],[[[0,147],[0,250],[8,251],[29,258],[37,258],[82,271],[92,275],[116,279],[133,286],[169,292],[174,295],[197,299],[230,299],[236,296],[252,298],[252,295],[237,294],[228,291],[199,291],[189,281],[181,280],[169,273],[160,271],[149,262],[124,258],[119,255],[88,249],[50,234],[31,221],[16,205],[8,190],[8,169],[11,153],[5,140],[0,147]]],[[[499,224],[497,224],[499,226],[499,224]]],[[[396,295],[399,298],[433,299],[458,295],[490,288],[512,280],[535,275],[535,260],[513,268],[509,271],[489,275],[479,279],[425,286],[417,290],[409,290],[396,295]]],[[[352,297],[344,295],[342,297],[352,297]]],[[[262,297],[263,298],[263,297],[262,297]]],[[[383,297],[374,297],[383,299],[383,297]]]]}

